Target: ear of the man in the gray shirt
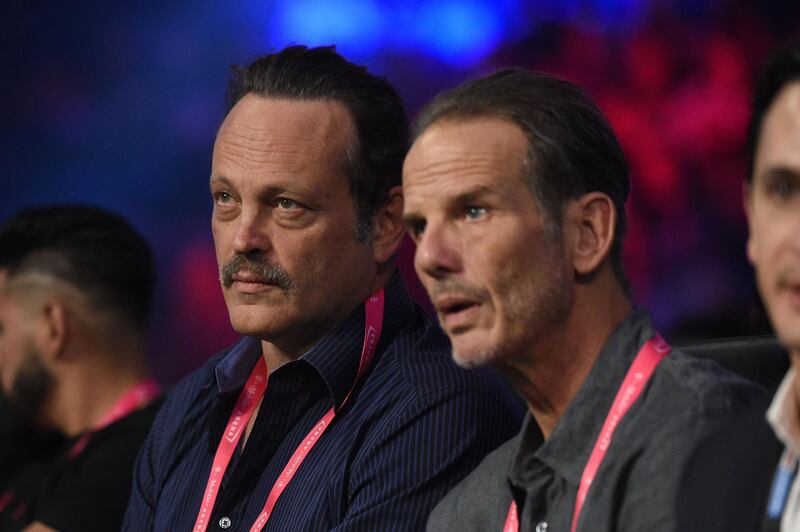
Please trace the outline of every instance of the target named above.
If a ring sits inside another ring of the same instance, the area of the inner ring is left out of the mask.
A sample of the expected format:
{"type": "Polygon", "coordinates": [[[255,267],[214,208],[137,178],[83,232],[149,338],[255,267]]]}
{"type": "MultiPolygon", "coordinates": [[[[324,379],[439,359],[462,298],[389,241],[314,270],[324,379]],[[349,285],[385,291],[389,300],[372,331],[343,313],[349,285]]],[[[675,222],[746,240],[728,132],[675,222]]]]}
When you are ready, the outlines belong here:
{"type": "Polygon", "coordinates": [[[602,192],[589,192],[570,204],[569,217],[576,238],[572,243],[575,272],[588,275],[608,257],[614,244],[617,209],[611,198],[602,192]]]}

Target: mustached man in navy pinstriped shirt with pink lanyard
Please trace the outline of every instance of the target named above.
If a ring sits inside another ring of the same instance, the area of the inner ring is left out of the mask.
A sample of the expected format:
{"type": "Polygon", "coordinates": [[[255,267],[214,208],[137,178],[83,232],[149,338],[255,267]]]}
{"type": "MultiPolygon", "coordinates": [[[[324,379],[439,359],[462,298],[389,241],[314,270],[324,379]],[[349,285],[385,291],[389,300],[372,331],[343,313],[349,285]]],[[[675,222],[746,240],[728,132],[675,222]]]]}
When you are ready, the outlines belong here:
{"type": "Polygon", "coordinates": [[[400,98],[292,46],[236,69],[229,103],[211,226],[245,338],[167,398],[124,529],[419,530],[518,417],[395,269],[400,98]]]}

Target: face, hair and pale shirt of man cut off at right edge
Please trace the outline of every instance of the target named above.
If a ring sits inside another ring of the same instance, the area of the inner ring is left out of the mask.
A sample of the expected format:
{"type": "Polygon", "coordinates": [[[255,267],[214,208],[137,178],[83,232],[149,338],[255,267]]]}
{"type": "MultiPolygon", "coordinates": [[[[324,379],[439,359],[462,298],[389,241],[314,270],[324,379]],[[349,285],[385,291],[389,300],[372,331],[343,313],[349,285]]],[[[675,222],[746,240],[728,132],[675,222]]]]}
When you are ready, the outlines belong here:
{"type": "Polygon", "coordinates": [[[767,505],[767,530],[800,530],[800,40],[767,60],[749,128],[752,165],[744,187],[747,256],[791,368],[767,419],[783,443],[767,505]],[[770,528],[771,527],[771,528],[770,528]]]}

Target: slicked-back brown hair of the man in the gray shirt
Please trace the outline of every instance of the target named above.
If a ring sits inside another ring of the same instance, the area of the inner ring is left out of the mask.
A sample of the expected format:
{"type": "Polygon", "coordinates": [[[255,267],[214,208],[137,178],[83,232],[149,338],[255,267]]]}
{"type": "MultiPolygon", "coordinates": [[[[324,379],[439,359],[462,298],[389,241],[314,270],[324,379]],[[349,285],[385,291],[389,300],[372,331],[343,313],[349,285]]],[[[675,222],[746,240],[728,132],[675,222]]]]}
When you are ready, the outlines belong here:
{"type": "Polygon", "coordinates": [[[564,204],[593,191],[607,194],[617,210],[611,264],[623,288],[622,238],[629,170],[614,131],[589,95],[566,80],[518,68],[500,70],[439,94],[420,113],[415,133],[445,119],[494,116],[528,137],[525,180],[545,223],[560,228],[564,204]]]}

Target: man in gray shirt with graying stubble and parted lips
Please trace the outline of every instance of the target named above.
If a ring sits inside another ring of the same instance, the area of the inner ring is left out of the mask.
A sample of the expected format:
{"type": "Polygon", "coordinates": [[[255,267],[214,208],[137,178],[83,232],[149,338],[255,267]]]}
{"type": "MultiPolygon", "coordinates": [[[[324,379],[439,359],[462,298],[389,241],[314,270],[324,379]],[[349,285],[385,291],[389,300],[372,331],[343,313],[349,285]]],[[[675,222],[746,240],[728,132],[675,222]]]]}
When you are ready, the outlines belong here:
{"type": "Polygon", "coordinates": [[[764,425],[764,394],[670,352],[633,309],[628,167],[579,87],[509,69],[440,94],[403,185],[455,360],[492,366],[529,409],[429,530],[755,530],[766,482],[749,430],[764,425]],[[735,467],[709,467],[720,453],[735,467]]]}

